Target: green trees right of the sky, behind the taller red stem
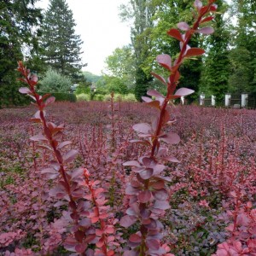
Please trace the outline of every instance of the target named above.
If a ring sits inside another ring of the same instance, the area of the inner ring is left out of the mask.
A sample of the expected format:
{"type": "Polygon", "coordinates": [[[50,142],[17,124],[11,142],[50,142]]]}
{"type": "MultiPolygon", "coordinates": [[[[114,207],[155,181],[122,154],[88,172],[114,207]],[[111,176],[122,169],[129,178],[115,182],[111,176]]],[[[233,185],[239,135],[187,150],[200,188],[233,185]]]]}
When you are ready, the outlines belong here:
{"type": "MultiPolygon", "coordinates": [[[[177,40],[167,35],[167,30],[177,26],[178,20],[191,23],[194,1],[129,0],[120,7],[120,16],[131,24],[131,45],[116,49],[107,59],[108,71],[127,86],[134,86],[137,100],[145,96],[148,88],[165,88],[155,81],[151,72],[156,70],[155,56],[177,54],[177,40]]],[[[191,47],[203,46],[207,54],[187,60],[181,67],[179,87],[195,90],[190,101],[198,99],[201,92],[216,96],[222,102],[224,93],[256,94],[256,2],[251,0],[217,0],[218,15],[213,22],[215,32],[203,39],[193,38],[191,47]]],[[[210,20],[209,20],[210,21],[210,20]]],[[[204,23],[207,26],[207,20],[204,23]]]]}

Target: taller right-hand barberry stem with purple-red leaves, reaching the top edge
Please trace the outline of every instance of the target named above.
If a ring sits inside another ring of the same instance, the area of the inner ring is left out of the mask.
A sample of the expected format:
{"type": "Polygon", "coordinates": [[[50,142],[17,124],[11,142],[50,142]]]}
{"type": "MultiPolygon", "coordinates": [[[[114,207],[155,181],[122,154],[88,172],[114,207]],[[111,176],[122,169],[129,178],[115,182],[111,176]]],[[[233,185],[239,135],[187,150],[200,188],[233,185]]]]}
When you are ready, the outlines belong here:
{"type": "Polygon", "coordinates": [[[151,125],[141,123],[133,125],[133,130],[137,131],[139,140],[135,143],[142,143],[148,147],[148,153],[143,154],[137,160],[125,162],[125,166],[131,166],[135,173],[131,178],[131,182],[125,189],[126,195],[129,196],[129,208],[126,215],[121,218],[120,224],[125,228],[131,227],[133,224],[139,224],[139,230],[133,233],[129,238],[131,250],[126,251],[125,255],[162,255],[165,249],[161,246],[163,224],[160,223],[160,217],[170,208],[169,194],[166,189],[166,182],[170,182],[169,177],[165,177],[163,172],[166,168],[166,161],[177,162],[172,156],[166,156],[168,150],[161,143],[177,144],[180,137],[175,132],[162,131],[165,125],[172,125],[175,119],[171,118],[167,110],[167,104],[170,100],[187,96],[193,93],[193,90],[180,88],[177,91],[177,82],[180,78],[178,72],[186,58],[202,55],[205,51],[199,48],[190,48],[189,40],[195,32],[201,34],[211,34],[211,27],[199,27],[202,23],[213,19],[211,15],[215,12],[217,6],[214,1],[209,1],[203,6],[201,1],[195,1],[195,23],[189,26],[186,22],[179,22],[177,27],[184,31],[182,34],[179,30],[172,28],[167,33],[172,38],[176,38],[180,42],[180,53],[175,61],[172,61],[170,55],[158,55],[156,61],[160,66],[165,67],[170,76],[166,79],[156,73],[152,73],[156,79],[166,85],[166,96],[161,95],[157,90],[148,90],[148,96],[154,96],[155,100],[144,97],[143,100],[149,106],[159,110],[159,115],[154,117],[151,125]]]}

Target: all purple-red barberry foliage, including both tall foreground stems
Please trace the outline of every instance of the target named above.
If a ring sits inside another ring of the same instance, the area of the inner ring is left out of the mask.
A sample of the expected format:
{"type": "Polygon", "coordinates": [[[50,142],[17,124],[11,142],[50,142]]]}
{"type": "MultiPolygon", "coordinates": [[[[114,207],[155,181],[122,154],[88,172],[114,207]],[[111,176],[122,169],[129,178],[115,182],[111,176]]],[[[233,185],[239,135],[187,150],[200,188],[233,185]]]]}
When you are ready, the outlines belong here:
{"type": "Polygon", "coordinates": [[[157,56],[167,95],[146,104],[52,104],[20,63],[36,104],[0,109],[0,253],[255,254],[255,111],[167,104],[192,92],[175,91],[183,60],[204,52],[189,38],[212,33],[198,26],[216,5],[195,9],[193,26],[168,31],[177,60],[157,56]]]}

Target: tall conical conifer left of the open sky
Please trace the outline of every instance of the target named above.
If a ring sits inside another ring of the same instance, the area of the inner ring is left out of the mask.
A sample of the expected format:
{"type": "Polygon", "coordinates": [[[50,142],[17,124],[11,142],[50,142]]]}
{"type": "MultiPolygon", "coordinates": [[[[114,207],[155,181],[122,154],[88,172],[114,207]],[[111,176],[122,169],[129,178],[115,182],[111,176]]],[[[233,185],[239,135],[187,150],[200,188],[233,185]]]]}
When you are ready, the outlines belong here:
{"type": "Polygon", "coordinates": [[[43,26],[44,60],[62,75],[78,82],[83,41],[75,34],[75,21],[66,0],[50,0],[43,26]]]}

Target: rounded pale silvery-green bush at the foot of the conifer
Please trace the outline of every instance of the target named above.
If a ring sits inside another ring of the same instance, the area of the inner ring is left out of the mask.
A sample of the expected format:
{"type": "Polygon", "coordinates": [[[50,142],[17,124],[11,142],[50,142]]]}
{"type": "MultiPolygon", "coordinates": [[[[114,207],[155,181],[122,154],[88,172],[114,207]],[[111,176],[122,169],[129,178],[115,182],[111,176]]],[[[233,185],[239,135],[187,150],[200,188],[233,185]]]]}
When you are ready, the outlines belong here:
{"type": "Polygon", "coordinates": [[[67,76],[62,76],[49,68],[40,83],[40,90],[52,92],[67,92],[70,90],[72,81],[67,76]]]}

